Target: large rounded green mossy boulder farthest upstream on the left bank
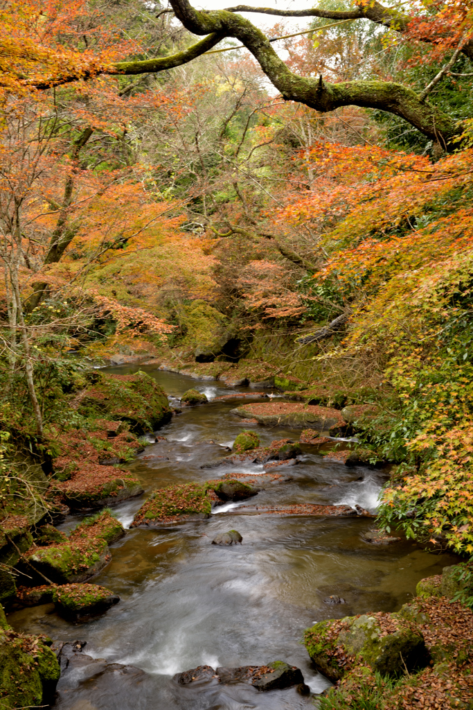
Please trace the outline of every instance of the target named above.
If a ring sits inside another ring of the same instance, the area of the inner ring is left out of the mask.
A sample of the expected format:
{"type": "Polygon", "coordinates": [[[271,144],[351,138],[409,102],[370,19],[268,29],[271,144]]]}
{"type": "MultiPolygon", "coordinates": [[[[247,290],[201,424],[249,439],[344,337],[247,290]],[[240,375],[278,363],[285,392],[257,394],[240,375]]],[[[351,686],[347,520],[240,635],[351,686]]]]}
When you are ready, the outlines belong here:
{"type": "Polygon", "coordinates": [[[171,419],[165,392],[147,373],[108,375],[94,371],[87,377],[90,384],[79,397],[83,415],[128,422],[136,434],[155,431],[171,419]]]}

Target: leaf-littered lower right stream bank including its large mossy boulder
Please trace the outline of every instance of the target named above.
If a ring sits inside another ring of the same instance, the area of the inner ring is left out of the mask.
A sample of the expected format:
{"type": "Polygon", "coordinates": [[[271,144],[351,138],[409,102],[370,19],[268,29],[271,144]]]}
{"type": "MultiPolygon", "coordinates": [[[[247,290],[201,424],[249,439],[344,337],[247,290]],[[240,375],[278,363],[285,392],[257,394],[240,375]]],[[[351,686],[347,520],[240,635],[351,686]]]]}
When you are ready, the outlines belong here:
{"type": "Polygon", "coordinates": [[[463,573],[446,567],[423,579],[399,612],[320,621],[306,630],[313,664],[335,682],[321,708],[355,708],[363,699],[377,710],[471,708],[473,613],[452,601],[471,594],[463,573]]]}

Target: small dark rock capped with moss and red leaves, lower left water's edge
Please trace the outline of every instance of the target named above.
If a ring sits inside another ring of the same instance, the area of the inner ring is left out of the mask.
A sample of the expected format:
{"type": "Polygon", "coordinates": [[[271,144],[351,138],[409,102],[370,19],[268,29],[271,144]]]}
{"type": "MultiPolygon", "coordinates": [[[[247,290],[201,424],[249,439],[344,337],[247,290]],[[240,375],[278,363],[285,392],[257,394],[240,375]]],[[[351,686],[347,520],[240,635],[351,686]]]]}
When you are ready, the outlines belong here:
{"type": "Polygon", "coordinates": [[[63,584],[52,592],[56,610],[66,618],[104,613],[120,601],[118,594],[98,584],[63,584]]]}

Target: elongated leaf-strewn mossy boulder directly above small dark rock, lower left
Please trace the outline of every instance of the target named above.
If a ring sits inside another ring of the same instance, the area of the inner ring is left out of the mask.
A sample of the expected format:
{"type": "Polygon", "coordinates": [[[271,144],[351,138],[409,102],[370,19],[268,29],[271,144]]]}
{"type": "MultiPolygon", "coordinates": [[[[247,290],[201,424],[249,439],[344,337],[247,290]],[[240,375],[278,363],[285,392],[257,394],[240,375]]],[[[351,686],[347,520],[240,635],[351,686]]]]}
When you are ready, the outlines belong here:
{"type": "MultiPolygon", "coordinates": [[[[105,567],[111,559],[108,543],[123,534],[121,523],[109,510],[104,510],[94,518],[84,520],[65,542],[31,548],[26,552],[26,559],[34,569],[57,584],[85,581],[105,567]]],[[[24,570],[26,574],[28,569],[24,570]]]]}

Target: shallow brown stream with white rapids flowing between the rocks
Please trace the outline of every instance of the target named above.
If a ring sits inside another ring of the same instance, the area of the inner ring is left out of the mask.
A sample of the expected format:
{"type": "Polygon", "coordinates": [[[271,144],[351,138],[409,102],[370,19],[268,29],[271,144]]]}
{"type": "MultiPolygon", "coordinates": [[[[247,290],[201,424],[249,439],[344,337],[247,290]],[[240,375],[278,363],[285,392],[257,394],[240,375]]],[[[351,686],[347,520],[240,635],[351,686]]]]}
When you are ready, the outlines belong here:
{"type": "MultiPolygon", "coordinates": [[[[142,369],[171,398],[189,388],[204,391],[209,400],[235,391],[150,366],[142,369]]],[[[230,414],[237,405],[238,400],[210,401],[173,417],[159,432],[167,442],[151,444],[129,466],[143,482],[145,496],[153,488],[215,479],[228,471],[262,473],[262,466],[255,464],[218,466],[243,428],[230,414]],[[216,467],[208,469],[208,464],[216,467]]],[[[245,425],[249,426],[254,426],[262,444],[298,437],[282,427],[245,425]]],[[[303,449],[297,466],[277,469],[290,471],[293,480],[270,486],[252,502],[345,503],[376,510],[386,474],[362,466],[349,469],[324,460],[313,447],[303,449]]],[[[143,500],[141,496],[116,506],[125,527],[143,500]]],[[[110,666],[105,673],[79,667],[60,680],[57,710],[311,707],[311,697],[301,696],[295,688],[262,693],[247,685],[216,682],[190,688],[179,686],[172,676],[203,664],[236,667],[285,660],[300,667],[311,691],[320,693],[330,683],[311,667],[300,643],[304,628],[327,618],[396,611],[411,599],[420,579],[457,562],[452,555],[425,552],[406,541],[389,547],[370,545],[362,539],[373,526],[369,518],[240,515],[238,507],[238,503],[220,506],[209,520],[129,530],[111,546],[111,563],[92,580],[121,596],[121,602],[101,618],[72,625],[57,616],[52,605],[9,615],[16,630],[57,640],[87,640],[88,655],[147,672],[135,677],[119,667],[110,666]],[[231,528],[243,535],[243,545],[211,545],[218,532],[231,528]],[[330,595],[345,603],[329,605],[323,600],[330,595]]],[[[71,516],[62,529],[81,519],[71,516]]]]}

